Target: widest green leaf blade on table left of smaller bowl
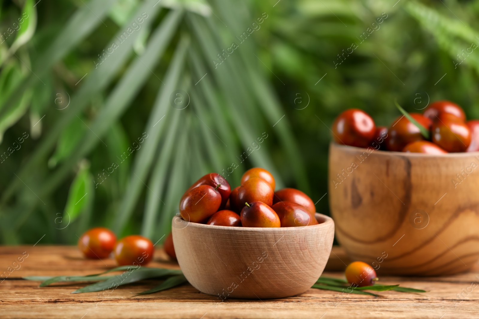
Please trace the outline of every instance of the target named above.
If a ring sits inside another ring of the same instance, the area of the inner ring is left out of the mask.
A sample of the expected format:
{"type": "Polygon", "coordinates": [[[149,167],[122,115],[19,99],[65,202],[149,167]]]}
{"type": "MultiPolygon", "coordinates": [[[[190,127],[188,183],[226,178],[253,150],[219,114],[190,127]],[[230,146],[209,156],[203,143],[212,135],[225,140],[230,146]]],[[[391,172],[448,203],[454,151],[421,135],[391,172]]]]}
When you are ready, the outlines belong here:
{"type": "Polygon", "coordinates": [[[142,271],[133,270],[131,272],[126,271],[121,275],[113,276],[105,281],[77,289],[73,291],[72,294],[102,291],[105,289],[116,288],[117,286],[134,283],[143,279],[162,277],[166,275],[177,275],[177,271],[162,268],[147,268],[142,271]]]}

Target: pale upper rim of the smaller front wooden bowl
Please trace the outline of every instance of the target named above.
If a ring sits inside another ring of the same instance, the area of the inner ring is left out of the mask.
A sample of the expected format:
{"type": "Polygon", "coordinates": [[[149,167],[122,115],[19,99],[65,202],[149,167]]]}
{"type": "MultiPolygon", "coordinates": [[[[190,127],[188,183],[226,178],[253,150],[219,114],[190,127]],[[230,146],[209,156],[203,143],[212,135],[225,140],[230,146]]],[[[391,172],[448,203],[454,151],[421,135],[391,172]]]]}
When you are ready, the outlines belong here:
{"type": "MultiPolygon", "coordinates": [[[[315,217],[316,217],[316,220],[318,220],[318,218],[320,218],[323,221],[321,223],[317,224],[317,225],[309,225],[309,226],[302,226],[302,227],[234,227],[234,226],[207,225],[207,224],[200,224],[200,223],[195,223],[195,222],[190,222],[190,221],[183,220],[183,221],[187,222],[188,224],[185,227],[182,227],[182,228],[179,228],[179,229],[181,230],[181,229],[185,229],[185,228],[191,226],[191,227],[194,227],[194,228],[199,228],[199,229],[204,229],[204,230],[209,230],[209,231],[228,230],[228,231],[241,232],[241,231],[260,231],[261,230],[261,231],[267,231],[267,232],[283,232],[283,231],[297,232],[297,231],[301,231],[301,230],[304,230],[304,229],[311,230],[313,228],[318,228],[318,229],[327,228],[329,224],[334,223],[334,221],[331,217],[320,214],[318,212],[315,213],[315,217]],[[192,224],[192,225],[190,225],[190,224],[192,224]]],[[[181,218],[181,217],[174,216],[173,220],[172,220],[173,224],[175,222],[175,218],[181,218]]],[[[173,228],[174,228],[174,226],[173,226],[173,228]]]]}

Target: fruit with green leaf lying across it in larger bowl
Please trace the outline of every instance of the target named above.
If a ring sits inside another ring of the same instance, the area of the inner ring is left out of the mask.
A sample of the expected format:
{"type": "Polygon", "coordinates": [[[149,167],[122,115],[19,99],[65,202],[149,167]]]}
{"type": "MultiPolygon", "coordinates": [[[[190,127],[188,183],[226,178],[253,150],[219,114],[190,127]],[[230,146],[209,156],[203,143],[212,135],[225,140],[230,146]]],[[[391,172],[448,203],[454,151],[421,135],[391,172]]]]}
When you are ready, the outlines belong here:
{"type": "MultiPolygon", "coordinates": [[[[427,130],[431,128],[433,121],[419,113],[410,114],[414,120],[422,124],[427,130]]],[[[388,151],[401,152],[407,144],[422,140],[424,140],[424,137],[419,128],[412,124],[405,116],[399,116],[388,129],[386,146],[388,151]]]]}

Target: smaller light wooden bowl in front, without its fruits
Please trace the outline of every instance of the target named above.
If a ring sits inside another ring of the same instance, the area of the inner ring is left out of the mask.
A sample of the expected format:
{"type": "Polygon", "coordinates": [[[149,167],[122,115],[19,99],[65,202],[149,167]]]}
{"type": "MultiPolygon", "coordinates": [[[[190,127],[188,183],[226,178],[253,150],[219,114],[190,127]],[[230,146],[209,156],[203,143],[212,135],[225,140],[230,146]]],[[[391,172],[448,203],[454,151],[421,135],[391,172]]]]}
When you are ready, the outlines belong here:
{"type": "Polygon", "coordinates": [[[218,297],[281,298],[309,289],[331,253],[334,222],[285,228],[211,226],[172,221],[178,263],[199,291],[218,297]]]}

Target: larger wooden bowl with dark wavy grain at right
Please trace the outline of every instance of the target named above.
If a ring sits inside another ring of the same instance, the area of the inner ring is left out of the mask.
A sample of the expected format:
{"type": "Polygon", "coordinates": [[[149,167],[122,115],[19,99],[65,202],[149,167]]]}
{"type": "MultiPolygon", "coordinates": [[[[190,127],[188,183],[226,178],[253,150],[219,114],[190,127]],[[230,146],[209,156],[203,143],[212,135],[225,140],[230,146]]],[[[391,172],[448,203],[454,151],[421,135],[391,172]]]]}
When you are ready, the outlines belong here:
{"type": "Polygon", "coordinates": [[[328,184],[338,241],[379,273],[454,274],[479,258],[479,152],[331,143],[328,184]]]}

